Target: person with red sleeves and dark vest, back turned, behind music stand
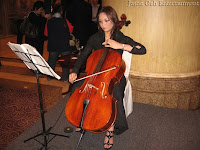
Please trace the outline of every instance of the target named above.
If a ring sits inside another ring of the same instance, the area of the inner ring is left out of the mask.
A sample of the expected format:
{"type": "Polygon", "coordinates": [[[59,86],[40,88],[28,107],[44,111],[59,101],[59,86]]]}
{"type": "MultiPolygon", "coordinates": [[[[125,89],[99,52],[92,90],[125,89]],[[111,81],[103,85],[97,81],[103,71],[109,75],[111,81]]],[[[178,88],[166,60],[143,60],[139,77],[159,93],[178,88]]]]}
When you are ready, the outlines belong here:
{"type": "MultiPolygon", "coordinates": [[[[48,64],[55,70],[56,62],[59,55],[65,56],[71,54],[69,45],[70,33],[73,31],[72,25],[68,20],[62,17],[63,7],[60,4],[55,4],[52,12],[52,17],[47,21],[45,26],[45,36],[48,38],[47,50],[49,52],[48,64]]],[[[68,81],[69,68],[62,68],[62,80],[68,81]]],[[[51,77],[47,77],[51,80],[51,77]]]]}

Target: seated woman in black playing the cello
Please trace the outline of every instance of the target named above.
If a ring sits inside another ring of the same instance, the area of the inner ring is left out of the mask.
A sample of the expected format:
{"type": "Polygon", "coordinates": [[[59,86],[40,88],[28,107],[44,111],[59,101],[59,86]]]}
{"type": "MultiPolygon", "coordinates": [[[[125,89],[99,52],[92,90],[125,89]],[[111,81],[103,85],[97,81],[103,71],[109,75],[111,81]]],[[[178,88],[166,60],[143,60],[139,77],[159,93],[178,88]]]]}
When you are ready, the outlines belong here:
{"type": "MultiPolygon", "coordinates": [[[[103,7],[97,17],[99,31],[92,35],[85,48],[81,52],[78,60],[76,61],[72,73],[69,75],[69,82],[73,83],[77,78],[77,74],[88,56],[92,51],[103,49],[109,47],[117,51],[122,55],[123,51],[128,51],[132,54],[145,54],[146,49],[143,45],[135,42],[130,37],[125,36],[119,31],[119,20],[116,11],[110,7],[103,7]]],[[[73,86],[81,86],[83,82],[76,82],[73,86]]],[[[124,76],[120,81],[114,85],[113,96],[117,99],[117,116],[113,125],[106,132],[104,139],[104,149],[111,149],[113,146],[113,135],[121,134],[128,129],[128,124],[126,121],[123,97],[124,89],[126,85],[126,79],[124,76]]]]}

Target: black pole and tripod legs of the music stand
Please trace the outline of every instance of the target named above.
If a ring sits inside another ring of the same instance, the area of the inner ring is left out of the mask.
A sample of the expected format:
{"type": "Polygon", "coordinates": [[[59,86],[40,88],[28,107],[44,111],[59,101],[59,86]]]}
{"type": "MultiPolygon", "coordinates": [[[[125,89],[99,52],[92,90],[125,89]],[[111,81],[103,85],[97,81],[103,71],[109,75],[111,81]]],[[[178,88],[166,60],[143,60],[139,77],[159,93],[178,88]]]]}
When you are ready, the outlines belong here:
{"type": "Polygon", "coordinates": [[[46,130],[46,126],[45,126],[45,118],[44,118],[44,113],[45,113],[45,110],[43,108],[43,103],[42,103],[42,92],[41,92],[41,89],[40,89],[40,84],[39,84],[39,74],[40,72],[38,70],[35,71],[36,73],[36,78],[37,78],[37,87],[38,87],[38,96],[39,96],[39,103],[40,103],[40,114],[41,114],[41,119],[42,119],[42,132],[33,136],[33,137],[30,137],[29,139],[27,140],[24,140],[24,143],[28,142],[29,140],[36,140],[37,142],[39,142],[40,144],[42,144],[42,147],[40,149],[43,149],[43,147],[45,148],[45,150],[47,150],[47,145],[48,143],[53,140],[53,138],[55,138],[56,136],[62,136],[62,137],[66,137],[66,138],[69,138],[69,136],[66,136],[66,135],[61,135],[61,134],[56,134],[56,133],[51,133],[51,129],[52,127],[50,127],[48,130],[46,130]],[[48,135],[54,135],[49,141],[47,140],[47,136],[48,135]],[[37,139],[35,139],[36,137],[38,136],[43,136],[44,137],[44,143],[41,143],[40,141],[38,141],[37,139]]]}

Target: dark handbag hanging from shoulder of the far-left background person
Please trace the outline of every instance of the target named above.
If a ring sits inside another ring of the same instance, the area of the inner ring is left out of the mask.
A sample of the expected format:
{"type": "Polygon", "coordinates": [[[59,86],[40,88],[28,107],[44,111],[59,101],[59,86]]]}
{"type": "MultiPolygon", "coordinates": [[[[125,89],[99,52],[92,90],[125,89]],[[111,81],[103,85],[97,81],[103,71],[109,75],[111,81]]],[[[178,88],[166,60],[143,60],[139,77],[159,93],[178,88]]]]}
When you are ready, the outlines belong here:
{"type": "MultiPolygon", "coordinates": [[[[29,13],[30,14],[30,13],[29,13]]],[[[20,31],[29,38],[36,38],[39,34],[38,26],[31,23],[29,14],[20,25],[20,31]]]]}

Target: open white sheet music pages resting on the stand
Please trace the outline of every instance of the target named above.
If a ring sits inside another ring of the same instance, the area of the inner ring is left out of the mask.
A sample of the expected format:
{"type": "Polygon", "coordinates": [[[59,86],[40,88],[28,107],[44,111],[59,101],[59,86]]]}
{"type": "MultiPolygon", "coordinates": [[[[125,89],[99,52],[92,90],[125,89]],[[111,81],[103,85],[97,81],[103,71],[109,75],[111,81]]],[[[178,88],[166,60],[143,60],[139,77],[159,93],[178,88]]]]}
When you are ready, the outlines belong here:
{"type": "Polygon", "coordinates": [[[41,73],[55,77],[58,80],[61,78],[33,46],[29,44],[14,44],[11,42],[8,42],[8,46],[29,69],[39,70],[41,73]]]}

